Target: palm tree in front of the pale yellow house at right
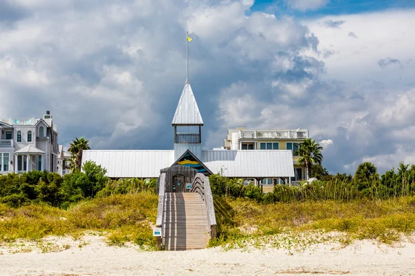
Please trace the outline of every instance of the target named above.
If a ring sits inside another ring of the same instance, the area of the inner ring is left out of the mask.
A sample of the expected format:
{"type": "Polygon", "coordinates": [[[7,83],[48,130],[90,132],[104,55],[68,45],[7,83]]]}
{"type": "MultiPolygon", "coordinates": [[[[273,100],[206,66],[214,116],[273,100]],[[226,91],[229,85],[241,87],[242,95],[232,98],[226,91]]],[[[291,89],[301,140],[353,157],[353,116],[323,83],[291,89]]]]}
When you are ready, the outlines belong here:
{"type": "Polygon", "coordinates": [[[298,163],[305,164],[307,169],[307,178],[311,178],[311,166],[313,164],[322,164],[323,147],[316,143],[315,140],[305,139],[302,144],[299,144],[295,155],[299,155],[298,163]]]}

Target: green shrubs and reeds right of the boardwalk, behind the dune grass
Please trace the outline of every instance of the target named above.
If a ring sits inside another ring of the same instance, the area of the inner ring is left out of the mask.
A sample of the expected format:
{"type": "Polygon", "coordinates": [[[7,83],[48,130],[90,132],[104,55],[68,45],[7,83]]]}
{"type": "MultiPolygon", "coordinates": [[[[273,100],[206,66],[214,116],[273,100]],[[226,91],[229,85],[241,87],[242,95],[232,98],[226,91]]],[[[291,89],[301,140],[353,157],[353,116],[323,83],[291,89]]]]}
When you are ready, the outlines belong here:
{"type": "MultiPolygon", "coordinates": [[[[317,167],[318,168],[318,167],[317,167]]],[[[317,172],[317,170],[315,170],[317,172]]],[[[326,173],[320,167],[318,170],[326,173]]],[[[210,176],[214,195],[255,199],[260,203],[302,201],[354,201],[356,199],[392,199],[415,195],[415,166],[400,164],[379,177],[374,164],[365,162],[356,169],[354,177],[346,174],[324,175],[324,180],[305,182],[302,186],[276,185],[273,193],[261,193],[261,187],[243,185],[242,179],[210,176]]]]}

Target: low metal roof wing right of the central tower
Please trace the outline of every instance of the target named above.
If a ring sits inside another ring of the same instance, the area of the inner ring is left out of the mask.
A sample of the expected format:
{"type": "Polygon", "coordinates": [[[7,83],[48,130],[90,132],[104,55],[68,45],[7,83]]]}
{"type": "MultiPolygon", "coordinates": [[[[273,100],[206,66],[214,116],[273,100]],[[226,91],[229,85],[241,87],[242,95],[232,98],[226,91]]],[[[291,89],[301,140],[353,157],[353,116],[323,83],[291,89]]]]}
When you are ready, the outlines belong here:
{"type": "Polygon", "coordinates": [[[294,177],[291,150],[203,150],[202,161],[225,177],[294,177]]]}

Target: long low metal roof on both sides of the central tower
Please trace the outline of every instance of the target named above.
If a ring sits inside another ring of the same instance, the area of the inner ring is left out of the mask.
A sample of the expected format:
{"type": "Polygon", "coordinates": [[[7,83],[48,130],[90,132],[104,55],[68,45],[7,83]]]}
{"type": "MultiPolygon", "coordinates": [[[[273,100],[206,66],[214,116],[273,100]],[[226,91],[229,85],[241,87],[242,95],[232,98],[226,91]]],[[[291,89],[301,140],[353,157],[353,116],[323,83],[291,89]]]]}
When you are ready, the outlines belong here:
{"type": "MultiPolygon", "coordinates": [[[[203,150],[202,162],[225,177],[294,177],[291,150],[203,150]]],[[[84,150],[82,163],[95,161],[108,177],[159,177],[172,166],[174,150],[84,150]]]]}

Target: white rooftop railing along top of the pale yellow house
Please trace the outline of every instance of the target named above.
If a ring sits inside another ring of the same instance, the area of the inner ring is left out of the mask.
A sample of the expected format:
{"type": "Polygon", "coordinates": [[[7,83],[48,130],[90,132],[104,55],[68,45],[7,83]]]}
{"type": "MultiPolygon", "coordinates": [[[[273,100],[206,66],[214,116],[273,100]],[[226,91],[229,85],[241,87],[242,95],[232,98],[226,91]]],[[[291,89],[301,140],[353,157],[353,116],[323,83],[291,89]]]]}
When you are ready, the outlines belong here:
{"type": "Polygon", "coordinates": [[[242,139],[306,139],[307,130],[239,130],[242,139]]]}

